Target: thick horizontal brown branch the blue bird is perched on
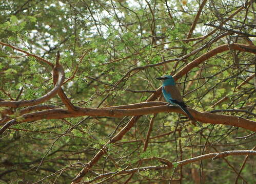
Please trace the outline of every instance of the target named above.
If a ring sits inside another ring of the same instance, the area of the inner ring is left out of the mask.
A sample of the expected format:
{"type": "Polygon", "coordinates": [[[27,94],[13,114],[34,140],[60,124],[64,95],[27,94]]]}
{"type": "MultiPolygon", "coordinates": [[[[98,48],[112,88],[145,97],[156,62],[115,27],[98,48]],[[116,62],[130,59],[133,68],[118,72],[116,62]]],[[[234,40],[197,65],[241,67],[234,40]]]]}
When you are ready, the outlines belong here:
{"type": "MultiPolygon", "coordinates": [[[[157,103],[157,102],[154,102],[157,103]]],[[[163,104],[163,102],[159,102],[163,104]]],[[[145,103],[144,103],[145,104],[145,103]]],[[[150,104],[150,103],[149,103],[150,104]]],[[[137,106],[137,104],[135,104],[137,106]]],[[[256,122],[244,119],[241,117],[228,116],[223,114],[213,114],[209,112],[200,112],[188,108],[189,112],[192,114],[196,121],[201,123],[210,124],[223,124],[242,127],[251,131],[256,131],[256,122]]],[[[153,106],[153,107],[143,107],[134,109],[108,109],[108,108],[77,108],[76,111],[69,111],[67,109],[50,109],[39,112],[32,112],[29,114],[24,114],[23,116],[17,117],[6,123],[8,126],[4,126],[0,129],[0,134],[3,133],[9,126],[24,122],[31,122],[43,119],[63,119],[72,118],[80,116],[108,116],[108,117],[124,117],[124,116],[142,116],[146,114],[155,114],[159,112],[176,112],[186,115],[180,107],[176,106],[153,106]]],[[[124,127],[125,129],[128,127],[124,127]]],[[[123,131],[125,131],[125,129],[123,131]]],[[[121,134],[122,135],[122,134],[121,134]]],[[[113,137],[112,141],[118,141],[121,135],[113,137]]]]}

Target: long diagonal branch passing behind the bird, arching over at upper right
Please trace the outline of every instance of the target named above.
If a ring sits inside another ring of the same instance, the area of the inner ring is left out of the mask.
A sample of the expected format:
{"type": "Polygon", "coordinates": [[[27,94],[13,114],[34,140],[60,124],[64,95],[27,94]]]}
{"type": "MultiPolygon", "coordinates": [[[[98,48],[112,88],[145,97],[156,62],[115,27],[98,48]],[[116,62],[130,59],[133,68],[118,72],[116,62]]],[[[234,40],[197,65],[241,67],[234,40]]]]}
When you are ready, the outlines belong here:
{"type": "MultiPolygon", "coordinates": [[[[176,73],[173,77],[175,80],[178,80],[179,78],[181,78],[183,75],[185,75],[186,73],[188,73],[193,67],[196,67],[198,66],[200,63],[204,62],[205,60],[209,59],[210,57],[218,54],[218,53],[221,53],[221,52],[224,52],[224,51],[227,51],[229,50],[229,46],[231,49],[234,49],[234,50],[240,50],[240,51],[244,51],[244,52],[252,52],[252,53],[256,53],[256,47],[254,47],[253,45],[243,45],[243,44],[231,44],[231,45],[228,45],[228,44],[224,44],[224,45],[221,45],[205,54],[203,54],[202,56],[200,56],[199,58],[196,58],[195,60],[193,60],[192,62],[188,63],[186,66],[184,66],[180,72],[176,73]]],[[[149,99],[147,100],[147,102],[149,101],[154,101],[156,100],[160,94],[161,94],[161,88],[162,87],[159,87],[154,94],[152,94],[149,99]]],[[[155,113],[155,112],[152,112],[152,113],[155,113]]],[[[205,114],[207,116],[209,115],[212,115],[211,113],[209,114],[205,114]]],[[[193,114],[192,114],[193,116],[193,114]]],[[[200,116],[200,115],[199,115],[200,116]]],[[[195,117],[195,116],[193,116],[195,117]]],[[[134,123],[140,118],[140,116],[133,116],[130,121],[126,124],[126,126],[124,128],[122,128],[120,130],[120,132],[118,132],[114,137],[113,139],[111,139],[106,145],[108,145],[109,143],[115,143],[119,140],[122,139],[122,137],[124,136],[124,134],[126,132],[128,132],[131,127],[133,127],[134,123]]],[[[215,120],[214,118],[215,117],[212,117],[213,119],[212,120],[215,120]]],[[[218,119],[219,120],[219,119],[218,119]]],[[[220,120],[223,120],[223,119],[220,119],[220,120]]],[[[243,120],[243,119],[242,119],[243,120]]],[[[235,122],[237,121],[240,121],[240,119],[237,119],[237,120],[234,120],[235,122]]],[[[213,121],[214,123],[217,123],[218,121],[213,121]]],[[[250,123],[248,123],[247,125],[253,125],[255,124],[256,122],[253,122],[251,121],[250,123]]],[[[253,128],[253,127],[252,127],[253,128]]],[[[256,127],[254,126],[254,128],[256,130],[256,127]]],[[[104,146],[106,148],[106,146],[104,146]]],[[[103,147],[103,148],[104,148],[103,147]]],[[[100,150],[99,152],[97,152],[95,154],[95,156],[90,160],[90,162],[87,164],[87,167],[88,168],[91,168],[94,164],[97,163],[97,161],[102,157],[102,155],[104,154],[104,151],[103,150],[100,150]]],[[[73,179],[73,182],[72,184],[74,183],[78,183],[82,180],[82,178],[85,176],[85,174],[88,172],[89,170],[84,168],[80,171],[80,173],[77,174],[77,176],[73,179]]]]}

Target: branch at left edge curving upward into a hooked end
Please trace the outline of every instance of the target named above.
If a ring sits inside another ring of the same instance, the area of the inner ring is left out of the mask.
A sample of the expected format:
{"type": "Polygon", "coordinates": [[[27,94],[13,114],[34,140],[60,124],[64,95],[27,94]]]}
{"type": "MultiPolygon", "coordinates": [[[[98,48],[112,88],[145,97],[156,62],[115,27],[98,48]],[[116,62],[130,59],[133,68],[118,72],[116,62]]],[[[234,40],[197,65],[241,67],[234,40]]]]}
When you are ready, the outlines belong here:
{"type": "Polygon", "coordinates": [[[24,106],[32,106],[37,105],[40,103],[43,103],[49,99],[51,99],[53,96],[55,96],[58,93],[58,90],[60,90],[63,82],[64,82],[64,70],[61,65],[57,66],[55,70],[58,72],[58,81],[54,88],[49,91],[46,95],[44,95],[41,98],[34,99],[34,100],[21,100],[21,101],[0,101],[0,107],[24,107],[24,106]]]}

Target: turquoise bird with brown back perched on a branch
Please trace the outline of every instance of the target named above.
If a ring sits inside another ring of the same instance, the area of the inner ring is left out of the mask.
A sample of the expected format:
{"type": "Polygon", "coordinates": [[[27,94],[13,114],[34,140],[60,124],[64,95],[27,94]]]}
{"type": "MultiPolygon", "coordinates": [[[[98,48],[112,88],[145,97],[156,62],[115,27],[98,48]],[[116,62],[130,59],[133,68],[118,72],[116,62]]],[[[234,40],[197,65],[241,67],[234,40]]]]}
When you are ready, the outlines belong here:
{"type": "MultiPolygon", "coordinates": [[[[182,100],[181,93],[179,89],[175,86],[175,81],[172,78],[172,76],[165,75],[162,77],[156,78],[158,80],[163,81],[163,87],[162,87],[162,92],[165,97],[166,102],[172,105],[179,105],[181,109],[187,114],[187,116],[192,120],[193,124],[195,125],[195,119],[192,117],[192,115],[189,113],[187,110],[187,106],[182,100]]],[[[198,122],[196,122],[198,123],[198,122]]],[[[199,126],[202,127],[201,124],[198,123],[199,126]]]]}

